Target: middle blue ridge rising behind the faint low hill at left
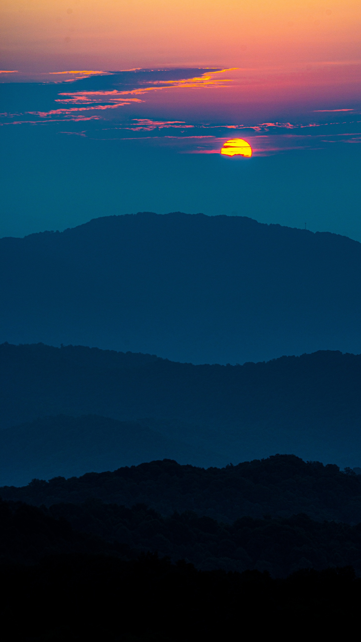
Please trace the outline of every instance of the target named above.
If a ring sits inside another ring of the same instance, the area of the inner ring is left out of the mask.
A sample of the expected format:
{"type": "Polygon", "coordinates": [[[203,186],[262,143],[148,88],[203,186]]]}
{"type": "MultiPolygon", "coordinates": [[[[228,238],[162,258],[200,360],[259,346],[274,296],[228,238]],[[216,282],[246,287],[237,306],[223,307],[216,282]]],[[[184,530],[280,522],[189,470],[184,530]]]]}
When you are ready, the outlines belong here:
{"type": "MultiPolygon", "coordinates": [[[[196,366],[86,347],[1,345],[0,426],[47,415],[141,420],[173,440],[168,457],[182,454],[174,442],[189,444],[189,464],[294,453],[356,467],[361,356],[320,351],[267,363],[196,366]]],[[[139,441],[140,454],[155,456],[139,441]]]]}

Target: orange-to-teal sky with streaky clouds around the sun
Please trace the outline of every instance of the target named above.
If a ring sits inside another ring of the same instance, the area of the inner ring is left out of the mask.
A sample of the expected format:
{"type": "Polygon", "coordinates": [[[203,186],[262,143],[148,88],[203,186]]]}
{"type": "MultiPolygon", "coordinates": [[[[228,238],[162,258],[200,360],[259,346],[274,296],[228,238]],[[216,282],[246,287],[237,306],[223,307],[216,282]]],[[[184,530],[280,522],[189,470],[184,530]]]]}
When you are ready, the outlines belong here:
{"type": "Polygon", "coordinates": [[[358,0],[3,0],[0,25],[0,236],[184,211],[361,241],[358,0]]]}

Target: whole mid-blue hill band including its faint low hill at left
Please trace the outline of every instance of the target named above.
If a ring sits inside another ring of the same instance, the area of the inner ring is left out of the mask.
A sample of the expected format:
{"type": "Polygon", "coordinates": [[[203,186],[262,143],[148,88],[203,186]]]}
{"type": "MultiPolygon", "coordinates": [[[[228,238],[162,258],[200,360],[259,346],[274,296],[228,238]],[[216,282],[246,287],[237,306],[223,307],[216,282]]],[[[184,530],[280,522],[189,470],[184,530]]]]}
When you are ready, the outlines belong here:
{"type": "Polygon", "coordinates": [[[341,352],[221,366],[4,343],[0,483],[164,457],[207,467],[294,453],[357,467],[360,392],[361,355],[341,352]]]}

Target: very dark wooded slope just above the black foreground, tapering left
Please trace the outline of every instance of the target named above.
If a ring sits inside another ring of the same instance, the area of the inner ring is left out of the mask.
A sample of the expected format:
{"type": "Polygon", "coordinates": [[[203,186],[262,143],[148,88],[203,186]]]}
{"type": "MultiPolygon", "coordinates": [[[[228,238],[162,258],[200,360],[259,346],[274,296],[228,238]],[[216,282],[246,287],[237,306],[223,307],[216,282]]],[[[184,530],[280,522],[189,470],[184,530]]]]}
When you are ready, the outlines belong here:
{"type": "Polygon", "coordinates": [[[98,500],[55,504],[49,514],[66,519],[78,531],[127,544],[130,550],[168,555],[173,562],[186,559],[207,571],[258,569],[286,577],[301,568],[353,566],[361,575],[361,523],[320,523],[300,514],[286,519],[241,517],[227,525],[191,511],[164,519],[143,504],[125,508],[98,500]]]}

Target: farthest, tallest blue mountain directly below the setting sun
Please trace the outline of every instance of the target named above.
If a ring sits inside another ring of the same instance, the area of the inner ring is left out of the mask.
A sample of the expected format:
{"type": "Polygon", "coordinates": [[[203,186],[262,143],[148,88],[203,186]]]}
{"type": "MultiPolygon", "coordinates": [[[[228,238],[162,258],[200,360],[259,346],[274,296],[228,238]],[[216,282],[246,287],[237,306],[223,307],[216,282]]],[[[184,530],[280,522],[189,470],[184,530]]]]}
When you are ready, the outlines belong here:
{"type": "Polygon", "coordinates": [[[243,216],[105,216],[0,239],[0,340],[192,363],[359,352],[361,244],[243,216]]]}

